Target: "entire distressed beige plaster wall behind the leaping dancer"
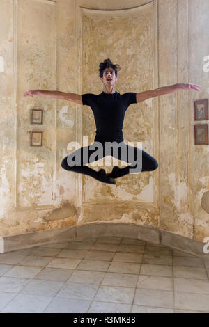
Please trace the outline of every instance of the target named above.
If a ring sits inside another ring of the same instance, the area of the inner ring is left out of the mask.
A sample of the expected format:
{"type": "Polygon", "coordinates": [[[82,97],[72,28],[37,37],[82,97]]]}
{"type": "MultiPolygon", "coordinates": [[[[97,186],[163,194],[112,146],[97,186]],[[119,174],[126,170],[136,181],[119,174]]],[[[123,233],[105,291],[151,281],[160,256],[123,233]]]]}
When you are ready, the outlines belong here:
{"type": "Polygon", "coordinates": [[[208,98],[208,15],[207,0],[0,1],[1,236],[100,221],[200,241],[209,235],[209,151],[194,145],[193,131],[193,101],[208,98]],[[142,142],[159,168],[116,186],[61,168],[70,141],[93,141],[88,106],[22,97],[30,89],[98,94],[104,58],[121,65],[119,93],[201,84],[200,93],[180,90],[130,106],[124,139],[142,142]],[[44,109],[43,125],[30,125],[36,107],[44,109]],[[44,131],[42,147],[29,146],[31,130],[44,131]]]}

